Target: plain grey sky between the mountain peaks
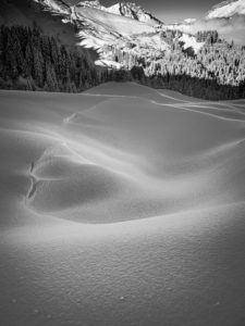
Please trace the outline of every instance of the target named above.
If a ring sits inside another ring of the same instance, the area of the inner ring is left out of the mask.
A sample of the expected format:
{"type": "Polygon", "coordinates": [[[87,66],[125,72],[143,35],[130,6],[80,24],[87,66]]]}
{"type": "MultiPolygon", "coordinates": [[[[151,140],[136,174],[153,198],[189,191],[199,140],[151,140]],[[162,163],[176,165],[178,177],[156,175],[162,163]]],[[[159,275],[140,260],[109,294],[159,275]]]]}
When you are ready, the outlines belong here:
{"type": "MultiPolygon", "coordinates": [[[[77,1],[77,0],[71,0],[77,1]]],[[[81,1],[81,0],[79,0],[81,1]]],[[[79,2],[77,1],[77,2],[79,2]]],[[[204,17],[212,5],[222,0],[126,0],[140,4],[163,23],[175,23],[185,18],[204,17]]],[[[109,7],[119,0],[100,0],[101,4],[109,7]]]]}

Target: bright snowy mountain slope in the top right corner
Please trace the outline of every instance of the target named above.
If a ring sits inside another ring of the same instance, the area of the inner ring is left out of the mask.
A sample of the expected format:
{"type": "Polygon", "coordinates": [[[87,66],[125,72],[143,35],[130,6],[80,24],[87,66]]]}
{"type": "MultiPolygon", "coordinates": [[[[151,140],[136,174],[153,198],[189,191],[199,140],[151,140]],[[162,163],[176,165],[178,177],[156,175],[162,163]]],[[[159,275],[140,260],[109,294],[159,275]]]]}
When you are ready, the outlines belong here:
{"type": "Polygon", "coordinates": [[[234,15],[245,15],[245,0],[223,1],[213,7],[206,18],[230,18],[234,15]]]}

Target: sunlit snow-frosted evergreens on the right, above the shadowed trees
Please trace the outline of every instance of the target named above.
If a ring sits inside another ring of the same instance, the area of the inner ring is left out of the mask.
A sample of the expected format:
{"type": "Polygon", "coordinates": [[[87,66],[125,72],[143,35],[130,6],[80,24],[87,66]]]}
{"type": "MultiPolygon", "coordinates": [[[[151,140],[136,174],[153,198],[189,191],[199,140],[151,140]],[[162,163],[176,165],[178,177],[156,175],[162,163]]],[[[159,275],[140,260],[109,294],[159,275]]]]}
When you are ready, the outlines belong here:
{"type": "Polygon", "coordinates": [[[219,85],[240,86],[245,80],[245,48],[221,41],[216,30],[199,32],[197,40],[205,45],[199,51],[184,49],[179,41],[181,32],[164,30],[161,37],[168,39],[170,49],[161,57],[144,58],[133,51],[112,48],[111,60],[131,70],[142,66],[146,76],[188,75],[196,79],[211,79],[219,85]]]}

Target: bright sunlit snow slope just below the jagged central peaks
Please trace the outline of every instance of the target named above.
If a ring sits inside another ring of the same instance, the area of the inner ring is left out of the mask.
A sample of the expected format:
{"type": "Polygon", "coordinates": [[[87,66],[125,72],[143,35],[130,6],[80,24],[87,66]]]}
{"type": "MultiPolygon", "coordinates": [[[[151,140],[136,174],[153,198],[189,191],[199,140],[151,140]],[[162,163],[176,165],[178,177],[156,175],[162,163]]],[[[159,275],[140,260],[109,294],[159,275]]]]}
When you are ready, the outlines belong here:
{"type": "Polygon", "coordinates": [[[112,63],[115,49],[150,59],[162,55],[168,48],[151,25],[90,7],[74,7],[72,10],[73,21],[79,22],[81,45],[96,49],[100,53],[97,63],[102,62],[102,65],[121,66],[112,63]]]}

